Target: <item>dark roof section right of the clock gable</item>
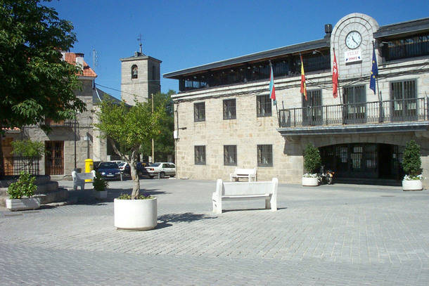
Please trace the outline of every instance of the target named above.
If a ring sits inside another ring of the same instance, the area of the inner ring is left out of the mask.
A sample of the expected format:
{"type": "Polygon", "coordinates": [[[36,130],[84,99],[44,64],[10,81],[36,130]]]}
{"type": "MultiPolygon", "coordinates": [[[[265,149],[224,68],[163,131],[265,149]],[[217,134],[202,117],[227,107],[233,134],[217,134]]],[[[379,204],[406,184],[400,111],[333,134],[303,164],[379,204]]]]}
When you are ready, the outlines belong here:
{"type": "Polygon", "coordinates": [[[416,34],[418,32],[429,31],[429,18],[399,22],[392,25],[385,25],[374,33],[374,38],[394,36],[397,34],[416,34]]]}

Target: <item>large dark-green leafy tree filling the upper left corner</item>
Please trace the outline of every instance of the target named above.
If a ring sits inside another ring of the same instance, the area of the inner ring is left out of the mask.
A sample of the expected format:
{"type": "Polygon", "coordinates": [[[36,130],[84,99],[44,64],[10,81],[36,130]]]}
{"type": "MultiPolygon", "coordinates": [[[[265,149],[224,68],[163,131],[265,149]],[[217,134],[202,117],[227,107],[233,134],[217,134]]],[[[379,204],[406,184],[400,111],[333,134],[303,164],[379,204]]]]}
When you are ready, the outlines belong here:
{"type": "MultiPolygon", "coordinates": [[[[0,132],[72,118],[85,104],[75,96],[79,67],[62,60],[76,41],[72,23],[41,5],[51,0],[0,0],[0,132]]],[[[3,162],[0,141],[0,160],[3,162]]]]}

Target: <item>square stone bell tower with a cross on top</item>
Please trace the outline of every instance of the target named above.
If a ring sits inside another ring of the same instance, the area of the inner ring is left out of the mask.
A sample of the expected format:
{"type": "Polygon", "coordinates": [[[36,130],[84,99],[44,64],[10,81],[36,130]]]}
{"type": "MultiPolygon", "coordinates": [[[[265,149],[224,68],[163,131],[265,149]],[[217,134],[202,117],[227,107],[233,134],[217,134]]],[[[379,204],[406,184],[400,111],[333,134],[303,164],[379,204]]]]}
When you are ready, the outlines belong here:
{"type": "MultiPolygon", "coordinates": [[[[139,38],[141,39],[141,37],[139,38]]],[[[129,105],[134,100],[145,102],[151,93],[161,91],[161,60],[146,56],[140,42],[139,51],[129,58],[121,58],[121,99],[129,105]]]]}

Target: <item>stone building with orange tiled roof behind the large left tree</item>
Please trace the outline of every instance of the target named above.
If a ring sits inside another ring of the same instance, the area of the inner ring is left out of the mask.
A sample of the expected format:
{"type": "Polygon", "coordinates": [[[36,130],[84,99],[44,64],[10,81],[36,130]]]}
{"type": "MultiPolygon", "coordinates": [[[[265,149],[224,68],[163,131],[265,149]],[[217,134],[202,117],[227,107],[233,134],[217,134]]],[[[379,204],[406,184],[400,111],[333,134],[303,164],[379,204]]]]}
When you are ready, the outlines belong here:
{"type": "Polygon", "coordinates": [[[11,155],[13,140],[30,138],[32,141],[44,142],[47,152],[39,161],[39,174],[41,175],[70,175],[75,167],[84,170],[84,160],[88,158],[94,161],[106,160],[106,142],[99,137],[100,131],[93,125],[96,122],[95,112],[98,103],[104,98],[118,100],[95,87],[94,80],[97,75],[85,63],[83,53],[63,52],[63,60],[82,67],[82,73],[78,74],[82,90],[76,91],[75,94],[77,98],[84,101],[87,110],[78,113],[76,120],[52,122],[50,119],[46,119],[46,124],[51,126],[49,133],[38,126],[25,126],[23,129],[6,131],[6,136],[2,138],[5,175],[16,175],[17,173],[11,155]]]}

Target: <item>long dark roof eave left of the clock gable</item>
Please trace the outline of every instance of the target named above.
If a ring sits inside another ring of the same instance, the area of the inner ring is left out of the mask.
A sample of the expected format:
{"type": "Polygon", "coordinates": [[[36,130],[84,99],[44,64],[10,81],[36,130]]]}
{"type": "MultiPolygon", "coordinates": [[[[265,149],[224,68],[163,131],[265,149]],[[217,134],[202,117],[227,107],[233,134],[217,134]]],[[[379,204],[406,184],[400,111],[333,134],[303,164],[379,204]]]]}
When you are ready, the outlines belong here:
{"type": "Polygon", "coordinates": [[[262,51],[259,53],[251,53],[250,55],[241,56],[238,58],[230,58],[228,60],[221,60],[219,62],[209,63],[207,65],[199,65],[197,67],[190,67],[185,70],[178,70],[176,72],[169,72],[167,74],[163,74],[163,77],[166,79],[177,79],[180,76],[184,76],[186,74],[192,74],[195,72],[201,72],[204,70],[211,70],[219,67],[228,67],[230,65],[236,65],[240,63],[252,62],[255,60],[264,60],[267,58],[274,58],[277,56],[283,56],[290,53],[299,53],[301,51],[309,51],[317,48],[326,48],[329,47],[330,40],[329,38],[319,39],[315,41],[307,41],[302,44],[295,44],[292,46],[284,46],[282,48],[274,48],[269,51],[262,51]]]}

